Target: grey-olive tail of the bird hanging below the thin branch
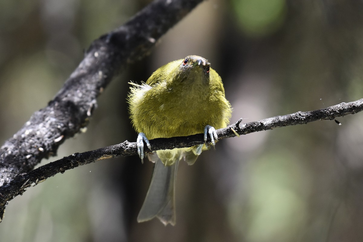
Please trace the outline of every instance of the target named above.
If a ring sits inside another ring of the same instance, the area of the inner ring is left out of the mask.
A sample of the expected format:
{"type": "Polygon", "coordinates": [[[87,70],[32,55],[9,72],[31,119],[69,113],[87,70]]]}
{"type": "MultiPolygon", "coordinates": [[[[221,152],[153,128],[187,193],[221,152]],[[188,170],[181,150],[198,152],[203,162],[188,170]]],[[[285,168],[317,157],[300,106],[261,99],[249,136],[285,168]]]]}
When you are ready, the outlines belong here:
{"type": "MultiPolygon", "coordinates": [[[[151,156],[154,156],[151,159],[157,157],[156,154],[151,156]]],[[[145,201],[137,217],[138,222],[148,221],[157,217],[164,225],[168,223],[175,225],[174,190],[178,164],[179,160],[173,165],[164,166],[159,157],[155,159],[154,173],[152,174],[145,201]]]]}

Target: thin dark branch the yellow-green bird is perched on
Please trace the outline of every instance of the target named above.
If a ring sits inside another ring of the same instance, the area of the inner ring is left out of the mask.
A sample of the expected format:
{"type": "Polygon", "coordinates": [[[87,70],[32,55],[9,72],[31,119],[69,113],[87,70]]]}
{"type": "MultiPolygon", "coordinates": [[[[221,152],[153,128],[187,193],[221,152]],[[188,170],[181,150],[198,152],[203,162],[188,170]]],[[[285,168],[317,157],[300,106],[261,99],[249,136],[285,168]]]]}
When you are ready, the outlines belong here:
{"type": "MultiPolygon", "coordinates": [[[[219,139],[225,139],[238,135],[250,134],[257,131],[272,130],[277,127],[291,126],[296,124],[306,124],[318,120],[333,120],[339,116],[355,114],[363,110],[363,99],[350,103],[340,103],[328,108],[309,111],[295,112],[284,116],[275,116],[269,119],[263,119],[250,123],[242,123],[242,119],[238,122],[217,130],[219,139]],[[232,130],[233,129],[233,130],[232,130]]],[[[197,144],[203,144],[203,134],[196,134],[184,137],[174,138],[158,138],[150,140],[153,150],[174,149],[191,147],[197,144]]],[[[0,208],[4,208],[5,204],[17,195],[23,192],[29,186],[35,186],[39,182],[44,181],[48,177],[57,173],[63,173],[66,170],[73,169],[79,165],[89,164],[91,162],[121,157],[137,155],[136,143],[125,141],[121,144],[111,145],[109,147],[87,151],[84,153],[75,153],[63,159],[43,165],[25,175],[15,177],[9,184],[0,187],[0,208]]],[[[0,211],[1,212],[1,211],[0,211]]]]}

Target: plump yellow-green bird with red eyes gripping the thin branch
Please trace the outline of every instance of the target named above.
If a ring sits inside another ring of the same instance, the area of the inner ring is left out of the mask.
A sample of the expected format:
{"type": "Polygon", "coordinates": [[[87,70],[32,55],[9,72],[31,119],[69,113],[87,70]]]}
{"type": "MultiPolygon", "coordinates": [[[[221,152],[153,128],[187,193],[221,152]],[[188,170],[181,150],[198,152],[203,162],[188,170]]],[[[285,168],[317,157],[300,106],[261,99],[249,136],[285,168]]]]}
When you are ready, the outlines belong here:
{"type": "MultiPolygon", "coordinates": [[[[188,136],[204,132],[204,140],[217,140],[215,129],[227,127],[231,105],[224,95],[221,77],[200,56],[187,56],[157,69],[142,85],[131,83],[128,97],[130,118],[137,138],[138,153],[144,158],[148,139],[188,136]]],[[[180,160],[193,164],[209,144],[153,151],[148,159],[154,173],[138,222],[158,217],[175,225],[175,178],[180,160]]]]}

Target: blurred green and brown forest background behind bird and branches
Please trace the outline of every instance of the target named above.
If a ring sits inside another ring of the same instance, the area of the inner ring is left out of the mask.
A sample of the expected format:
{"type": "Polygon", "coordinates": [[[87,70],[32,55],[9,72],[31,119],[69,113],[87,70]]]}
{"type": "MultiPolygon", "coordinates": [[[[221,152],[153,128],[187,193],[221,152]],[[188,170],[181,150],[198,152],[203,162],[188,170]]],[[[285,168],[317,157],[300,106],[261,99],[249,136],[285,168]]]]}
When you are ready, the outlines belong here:
{"type": "MultiPolygon", "coordinates": [[[[0,138],[45,107],[90,43],[150,1],[5,0],[0,8],[0,138]]],[[[127,82],[203,56],[222,77],[231,122],[363,98],[363,1],[208,0],[98,99],[87,132],[49,161],[135,141],[127,82]]],[[[152,164],[103,160],[9,202],[1,241],[363,241],[363,114],[220,141],[181,163],[177,223],[137,223],[152,164]]]]}

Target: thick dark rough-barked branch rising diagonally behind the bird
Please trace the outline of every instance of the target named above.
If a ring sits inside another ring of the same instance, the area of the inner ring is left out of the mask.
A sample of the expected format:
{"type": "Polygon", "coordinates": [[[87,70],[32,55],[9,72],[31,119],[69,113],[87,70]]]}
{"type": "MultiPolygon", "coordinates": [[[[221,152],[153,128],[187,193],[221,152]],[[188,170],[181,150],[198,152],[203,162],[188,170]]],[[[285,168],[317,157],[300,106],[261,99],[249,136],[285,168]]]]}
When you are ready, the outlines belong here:
{"type": "MultiPolygon", "coordinates": [[[[48,106],[0,148],[0,186],[28,173],[86,126],[96,98],[127,63],[141,59],[155,42],[202,0],[156,0],[126,24],[95,40],[85,58],[48,106]]],[[[0,218],[1,218],[0,214],[0,218]]]]}

